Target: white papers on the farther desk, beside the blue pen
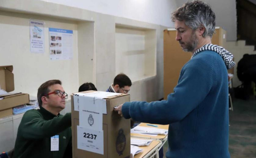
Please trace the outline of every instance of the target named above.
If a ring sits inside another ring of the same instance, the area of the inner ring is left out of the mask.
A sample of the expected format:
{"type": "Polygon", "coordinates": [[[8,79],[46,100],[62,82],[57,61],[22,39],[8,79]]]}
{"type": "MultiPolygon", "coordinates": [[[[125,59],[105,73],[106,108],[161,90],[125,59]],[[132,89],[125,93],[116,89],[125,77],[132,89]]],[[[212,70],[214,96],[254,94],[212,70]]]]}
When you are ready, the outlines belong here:
{"type": "Polygon", "coordinates": [[[168,130],[153,127],[136,126],[133,129],[131,129],[131,133],[167,135],[168,130]]]}

